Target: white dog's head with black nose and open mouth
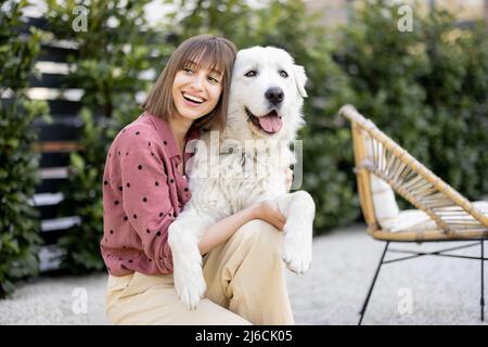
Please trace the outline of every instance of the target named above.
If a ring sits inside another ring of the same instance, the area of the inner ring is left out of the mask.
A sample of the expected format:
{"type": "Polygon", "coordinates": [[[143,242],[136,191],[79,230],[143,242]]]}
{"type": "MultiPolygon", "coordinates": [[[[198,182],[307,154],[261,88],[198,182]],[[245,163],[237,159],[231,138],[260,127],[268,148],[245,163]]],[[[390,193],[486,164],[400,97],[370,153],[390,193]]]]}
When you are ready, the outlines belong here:
{"type": "Polygon", "coordinates": [[[284,50],[253,47],[237,53],[227,124],[245,139],[293,140],[304,124],[307,77],[284,50]]]}

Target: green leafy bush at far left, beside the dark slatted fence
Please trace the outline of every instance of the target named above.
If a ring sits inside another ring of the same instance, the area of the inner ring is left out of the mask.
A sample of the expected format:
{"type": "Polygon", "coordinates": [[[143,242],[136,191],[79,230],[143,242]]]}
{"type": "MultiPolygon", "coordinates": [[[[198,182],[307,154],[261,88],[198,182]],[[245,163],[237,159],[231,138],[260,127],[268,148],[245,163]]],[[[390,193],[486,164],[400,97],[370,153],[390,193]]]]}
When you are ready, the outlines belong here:
{"type": "Polygon", "coordinates": [[[37,138],[30,126],[48,108],[24,93],[41,37],[33,29],[29,38],[18,38],[15,28],[25,5],[0,5],[0,94],[10,98],[0,101],[0,298],[13,292],[16,281],[38,273],[39,222],[29,200],[39,182],[39,155],[30,149],[37,138]]]}

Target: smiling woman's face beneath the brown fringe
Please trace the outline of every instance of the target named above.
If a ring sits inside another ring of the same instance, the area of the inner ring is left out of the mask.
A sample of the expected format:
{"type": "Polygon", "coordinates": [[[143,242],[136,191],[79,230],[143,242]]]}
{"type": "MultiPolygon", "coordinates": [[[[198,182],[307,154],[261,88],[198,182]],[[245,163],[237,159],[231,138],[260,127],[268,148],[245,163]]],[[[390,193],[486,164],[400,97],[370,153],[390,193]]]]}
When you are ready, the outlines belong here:
{"type": "Polygon", "coordinates": [[[195,120],[215,108],[221,91],[219,72],[188,62],[175,76],[172,101],[180,116],[195,120]]]}

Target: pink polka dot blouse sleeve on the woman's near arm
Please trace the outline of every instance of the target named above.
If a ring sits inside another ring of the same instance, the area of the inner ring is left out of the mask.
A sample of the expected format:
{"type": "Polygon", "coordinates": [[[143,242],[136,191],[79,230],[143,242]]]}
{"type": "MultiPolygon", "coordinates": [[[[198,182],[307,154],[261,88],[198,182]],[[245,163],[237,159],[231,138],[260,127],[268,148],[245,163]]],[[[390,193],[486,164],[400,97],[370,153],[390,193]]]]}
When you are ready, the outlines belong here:
{"type": "Polygon", "coordinates": [[[123,208],[150,261],[154,261],[162,273],[171,273],[168,227],[175,220],[175,213],[163,160],[164,151],[157,141],[133,132],[127,137],[125,150],[119,153],[123,208]]]}

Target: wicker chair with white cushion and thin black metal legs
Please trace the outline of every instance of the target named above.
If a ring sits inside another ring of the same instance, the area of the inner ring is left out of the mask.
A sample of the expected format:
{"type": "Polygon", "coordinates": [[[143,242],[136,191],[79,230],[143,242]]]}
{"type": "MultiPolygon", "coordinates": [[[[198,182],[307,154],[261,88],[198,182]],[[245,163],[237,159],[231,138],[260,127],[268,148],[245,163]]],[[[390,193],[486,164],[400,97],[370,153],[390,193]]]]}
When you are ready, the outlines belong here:
{"type": "Polygon", "coordinates": [[[480,260],[480,317],[484,320],[484,240],[488,237],[488,202],[471,203],[365,119],[351,105],[339,114],[351,123],[357,184],[368,233],[385,248],[360,311],[361,324],[382,265],[421,256],[480,260]],[[400,210],[395,193],[418,209],[400,210]],[[390,242],[468,241],[433,253],[388,249],[390,242]],[[475,242],[473,242],[475,241],[475,242]],[[480,245],[480,257],[444,254],[480,245]],[[410,254],[385,260],[387,252],[410,254]]]}

